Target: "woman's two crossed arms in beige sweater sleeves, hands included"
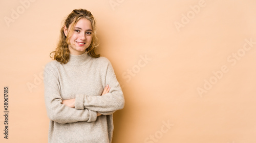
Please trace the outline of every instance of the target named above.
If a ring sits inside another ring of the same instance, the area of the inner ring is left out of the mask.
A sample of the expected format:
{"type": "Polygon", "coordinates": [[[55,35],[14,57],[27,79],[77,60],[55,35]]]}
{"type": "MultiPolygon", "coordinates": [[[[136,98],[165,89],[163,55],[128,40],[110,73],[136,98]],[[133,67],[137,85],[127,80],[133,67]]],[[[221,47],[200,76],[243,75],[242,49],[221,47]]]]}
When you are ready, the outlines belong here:
{"type": "Polygon", "coordinates": [[[53,69],[53,66],[47,65],[44,72],[45,104],[50,120],[61,124],[79,121],[94,122],[98,116],[111,115],[123,108],[123,93],[111,65],[105,77],[105,82],[109,84],[101,95],[76,94],[75,99],[69,100],[62,99],[58,73],[53,69]]]}

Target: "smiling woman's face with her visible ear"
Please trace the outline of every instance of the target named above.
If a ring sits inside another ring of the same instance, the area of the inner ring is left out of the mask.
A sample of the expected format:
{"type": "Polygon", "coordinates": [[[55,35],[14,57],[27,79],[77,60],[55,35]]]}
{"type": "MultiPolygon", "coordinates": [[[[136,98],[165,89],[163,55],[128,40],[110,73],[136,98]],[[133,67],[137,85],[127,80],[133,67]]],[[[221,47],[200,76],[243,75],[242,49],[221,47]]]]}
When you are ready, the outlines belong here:
{"type": "MultiPolygon", "coordinates": [[[[67,27],[64,27],[64,33],[67,36],[68,32],[70,32],[70,27],[67,30],[67,27]]],[[[71,54],[79,55],[86,51],[86,49],[90,46],[92,42],[92,24],[91,21],[82,18],[77,21],[76,25],[74,26],[74,33],[69,38],[70,44],[69,51],[71,54]]]]}

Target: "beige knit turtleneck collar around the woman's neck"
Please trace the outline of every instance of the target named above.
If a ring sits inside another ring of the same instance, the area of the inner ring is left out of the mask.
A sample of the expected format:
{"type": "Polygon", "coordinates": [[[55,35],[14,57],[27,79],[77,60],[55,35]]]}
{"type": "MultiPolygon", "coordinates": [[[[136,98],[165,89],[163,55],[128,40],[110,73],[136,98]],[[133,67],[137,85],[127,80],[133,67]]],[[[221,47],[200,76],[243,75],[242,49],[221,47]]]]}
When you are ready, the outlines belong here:
{"type": "Polygon", "coordinates": [[[80,55],[74,55],[74,54],[69,54],[69,61],[68,65],[82,65],[86,63],[90,59],[90,55],[87,52],[84,52],[83,54],[80,55]]]}

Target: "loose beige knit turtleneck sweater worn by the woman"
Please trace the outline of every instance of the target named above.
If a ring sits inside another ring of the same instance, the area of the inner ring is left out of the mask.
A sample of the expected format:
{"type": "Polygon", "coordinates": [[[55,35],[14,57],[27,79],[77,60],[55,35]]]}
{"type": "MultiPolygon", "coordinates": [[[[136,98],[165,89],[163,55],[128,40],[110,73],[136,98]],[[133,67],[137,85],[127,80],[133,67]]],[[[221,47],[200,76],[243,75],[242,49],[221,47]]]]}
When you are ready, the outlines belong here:
{"type": "Polygon", "coordinates": [[[111,142],[113,113],[123,108],[124,97],[108,59],[83,53],[70,54],[67,64],[51,61],[44,70],[44,84],[48,142],[111,142]],[[101,96],[107,84],[110,91],[101,96]],[[75,108],[62,104],[74,98],[75,108]],[[102,115],[97,117],[97,112],[102,115]]]}

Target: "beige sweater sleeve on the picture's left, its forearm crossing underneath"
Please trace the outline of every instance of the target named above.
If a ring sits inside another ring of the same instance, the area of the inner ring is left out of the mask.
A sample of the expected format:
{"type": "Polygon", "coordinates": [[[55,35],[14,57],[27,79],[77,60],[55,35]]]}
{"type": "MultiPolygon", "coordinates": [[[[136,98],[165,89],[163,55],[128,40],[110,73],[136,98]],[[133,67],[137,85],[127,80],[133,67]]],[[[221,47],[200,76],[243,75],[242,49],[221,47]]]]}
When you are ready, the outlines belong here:
{"type": "Polygon", "coordinates": [[[77,110],[62,104],[60,84],[56,71],[50,64],[44,70],[45,104],[50,120],[65,124],[78,121],[94,122],[97,112],[89,109],[77,110]],[[56,75],[55,75],[55,74],[56,75]]]}

